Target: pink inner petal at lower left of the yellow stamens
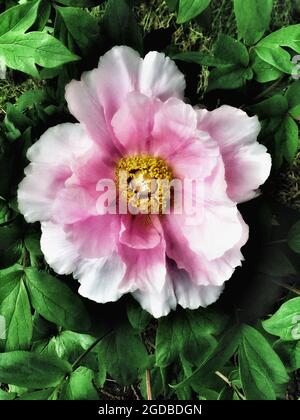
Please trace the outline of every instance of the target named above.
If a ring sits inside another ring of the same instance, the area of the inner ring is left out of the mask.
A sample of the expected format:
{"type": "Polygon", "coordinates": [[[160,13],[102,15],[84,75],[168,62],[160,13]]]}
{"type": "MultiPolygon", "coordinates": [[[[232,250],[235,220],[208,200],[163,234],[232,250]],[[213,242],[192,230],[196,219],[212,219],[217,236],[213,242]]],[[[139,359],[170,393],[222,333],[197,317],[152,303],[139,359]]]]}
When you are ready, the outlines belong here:
{"type": "Polygon", "coordinates": [[[67,238],[84,258],[108,257],[116,250],[120,231],[118,216],[105,214],[65,226],[67,238]]]}

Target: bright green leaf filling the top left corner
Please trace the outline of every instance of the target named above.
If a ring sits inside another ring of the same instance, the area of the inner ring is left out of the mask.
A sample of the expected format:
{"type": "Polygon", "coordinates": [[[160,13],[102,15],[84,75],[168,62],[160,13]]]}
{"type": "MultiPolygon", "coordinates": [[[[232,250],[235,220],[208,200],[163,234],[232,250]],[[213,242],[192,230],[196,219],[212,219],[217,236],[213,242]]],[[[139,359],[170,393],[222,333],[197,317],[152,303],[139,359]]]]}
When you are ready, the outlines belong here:
{"type": "Polygon", "coordinates": [[[0,37],[13,32],[23,34],[35,22],[40,1],[11,7],[0,15],[0,37]]]}

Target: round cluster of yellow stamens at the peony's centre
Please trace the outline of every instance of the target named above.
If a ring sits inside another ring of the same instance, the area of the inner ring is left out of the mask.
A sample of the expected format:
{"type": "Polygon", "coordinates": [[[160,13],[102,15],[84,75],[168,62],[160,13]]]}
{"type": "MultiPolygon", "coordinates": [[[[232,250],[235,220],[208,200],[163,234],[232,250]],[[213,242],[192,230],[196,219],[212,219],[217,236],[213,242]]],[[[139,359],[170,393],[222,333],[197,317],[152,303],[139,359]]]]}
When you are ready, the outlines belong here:
{"type": "Polygon", "coordinates": [[[133,213],[162,213],[170,205],[172,170],[157,157],[147,155],[120,159],[116,167],[119,199],[133,213]]]}

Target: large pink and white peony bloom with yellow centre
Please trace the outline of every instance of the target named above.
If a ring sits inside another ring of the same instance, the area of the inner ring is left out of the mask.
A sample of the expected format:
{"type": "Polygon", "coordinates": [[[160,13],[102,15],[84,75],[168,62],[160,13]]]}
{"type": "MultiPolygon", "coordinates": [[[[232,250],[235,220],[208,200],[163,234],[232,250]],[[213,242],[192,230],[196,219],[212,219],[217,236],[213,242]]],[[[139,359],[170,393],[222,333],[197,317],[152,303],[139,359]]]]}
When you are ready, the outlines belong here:
{"type": "Polygon", "coordinates": [[[28,150],[20,211],[41,222],[46,261],[58,274],[73,273],[84,297],[105,303],[132,293],[161,317],[177,304],[215,302],[241,265],[248,227],[237,204],[257,195],[271,168],[257,142],[260,124],[230,106],[193,108],[183,102],[184,89],[164,54],[141,59],[115,47],[66,87],[79,123],[50,128],[28,150]],[[99,213],[99,181],[118,185],[121,169],[130,174],[125,192],[140,194],[138,214],[99,213]],[[148,180],[163,177],[197,180],[201,200],[192,197],[201,215],[163,214],[162,192],[157,214],[142,214],[148,180]]]}

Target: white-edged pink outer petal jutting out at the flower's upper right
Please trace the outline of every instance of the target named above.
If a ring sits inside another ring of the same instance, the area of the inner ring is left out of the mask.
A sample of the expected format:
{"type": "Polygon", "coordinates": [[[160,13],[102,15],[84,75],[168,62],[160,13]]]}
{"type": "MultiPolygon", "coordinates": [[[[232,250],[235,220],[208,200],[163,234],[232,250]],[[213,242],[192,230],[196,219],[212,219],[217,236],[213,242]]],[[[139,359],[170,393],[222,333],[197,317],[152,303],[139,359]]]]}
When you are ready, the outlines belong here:
{"type": "Polygon", "coordinates": [[[258,118],[224,105],[212,112],[199,110],[198,128],[207,131],[219,144],[229,197],[235,202],[255,197],[271,170],[267,149],[257,143],[261,128],[258,118]]]}

